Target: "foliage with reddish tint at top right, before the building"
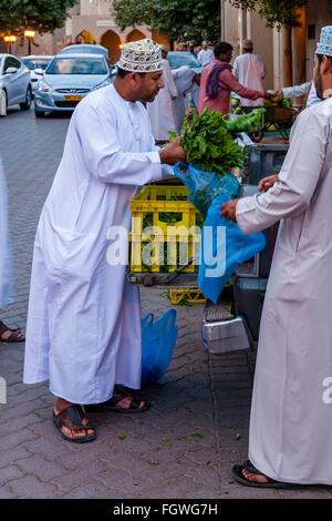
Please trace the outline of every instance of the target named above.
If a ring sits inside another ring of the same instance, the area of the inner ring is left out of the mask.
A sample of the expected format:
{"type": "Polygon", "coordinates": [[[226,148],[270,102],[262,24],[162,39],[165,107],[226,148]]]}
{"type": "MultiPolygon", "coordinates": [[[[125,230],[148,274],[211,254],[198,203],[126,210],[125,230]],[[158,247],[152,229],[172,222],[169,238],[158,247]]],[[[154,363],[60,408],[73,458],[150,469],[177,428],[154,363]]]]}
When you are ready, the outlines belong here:
{"type": "Polygon", "coordinates": [[[258,11],[266,19],[267,27],[300,25],[299,9],[305,6],[307,0],[229,0],[238,9],[258,11]]]}

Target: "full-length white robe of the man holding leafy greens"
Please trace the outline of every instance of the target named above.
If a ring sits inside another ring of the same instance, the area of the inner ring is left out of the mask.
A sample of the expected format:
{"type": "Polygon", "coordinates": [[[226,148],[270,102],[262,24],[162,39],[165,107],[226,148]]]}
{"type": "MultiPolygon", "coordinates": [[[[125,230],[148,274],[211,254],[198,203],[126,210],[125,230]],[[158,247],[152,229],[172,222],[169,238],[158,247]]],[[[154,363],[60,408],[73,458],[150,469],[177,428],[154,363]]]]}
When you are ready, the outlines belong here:
{"type": "Polygon", "coordinates": [[[89,94],[72,115],[37,231],[25,384],[49,379],[51,392],[75,403],[107,400],[114,384],[139,388],[139,294],[125,259],[110,264],[110,247],[126,253],[129,200],[160,177],[143,104],[113,85],[89,94]]]}

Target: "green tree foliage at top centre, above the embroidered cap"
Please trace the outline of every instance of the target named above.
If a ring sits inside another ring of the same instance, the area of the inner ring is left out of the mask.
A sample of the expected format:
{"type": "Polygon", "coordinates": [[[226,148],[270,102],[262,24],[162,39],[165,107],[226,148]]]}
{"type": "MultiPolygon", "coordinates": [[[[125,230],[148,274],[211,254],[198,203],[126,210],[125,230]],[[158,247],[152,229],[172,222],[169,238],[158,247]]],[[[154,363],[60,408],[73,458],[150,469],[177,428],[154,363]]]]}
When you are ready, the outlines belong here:
{"type": "Polygon", "coordinates": [[[116,24],[148,25],[169,41],[220,40],[220,0],[115,0],[113,14],[116,24]]]}

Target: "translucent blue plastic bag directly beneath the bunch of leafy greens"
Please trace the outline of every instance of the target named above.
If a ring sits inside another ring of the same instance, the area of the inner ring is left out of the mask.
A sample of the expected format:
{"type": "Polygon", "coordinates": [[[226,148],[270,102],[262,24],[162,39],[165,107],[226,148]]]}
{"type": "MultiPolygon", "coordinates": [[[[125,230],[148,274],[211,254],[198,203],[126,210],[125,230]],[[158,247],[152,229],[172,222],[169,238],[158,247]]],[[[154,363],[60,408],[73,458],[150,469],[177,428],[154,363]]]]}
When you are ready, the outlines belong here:
{"type": "Polygon", "coordinates": [[[234,198],[240,190],[240,183],[231,172],[221,175],[201,170],[199,165],[179,162],[174,165],[174,173],[189,188],[188,201],[199,210],[204,217],[217,195],[222,193],[234,198]]]}

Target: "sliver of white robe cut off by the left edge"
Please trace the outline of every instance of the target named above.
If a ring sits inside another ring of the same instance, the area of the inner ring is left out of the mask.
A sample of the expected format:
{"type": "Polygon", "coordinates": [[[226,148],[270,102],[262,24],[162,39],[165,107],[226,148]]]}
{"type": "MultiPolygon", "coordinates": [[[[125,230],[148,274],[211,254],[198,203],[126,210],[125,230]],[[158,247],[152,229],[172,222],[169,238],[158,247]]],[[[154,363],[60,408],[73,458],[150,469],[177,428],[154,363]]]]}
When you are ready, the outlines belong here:
{"type": "Polygon", "coordinates": [[[13,302],[12,257],[7,216],[7,184],[0,157],[0,308],[13,302]]]}

